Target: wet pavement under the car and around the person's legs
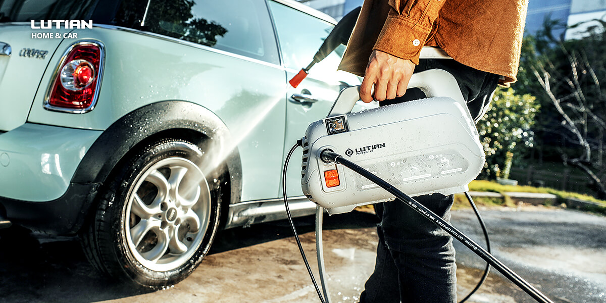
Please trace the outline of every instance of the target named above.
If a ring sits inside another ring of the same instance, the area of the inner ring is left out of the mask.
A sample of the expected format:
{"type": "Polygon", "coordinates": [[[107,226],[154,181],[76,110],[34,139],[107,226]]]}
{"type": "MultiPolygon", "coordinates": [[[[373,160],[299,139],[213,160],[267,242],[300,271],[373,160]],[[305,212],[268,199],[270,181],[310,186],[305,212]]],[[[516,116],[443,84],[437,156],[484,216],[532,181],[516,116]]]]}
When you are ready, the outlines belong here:
{"type": "MultiPolygon", "coordinates": [[[[606,217],[540,207],[482,210],[494,255],[554,302],[606,302],[606,217]]],[[[326,216],[325,262],[331,299],[357,302],[375,262],[376,217],[326,216]]],[[[453,224],[481,245],[471,210],[453,212],[453,224]]],[[[317,276],[314,218],[296,219],[317,276]]],[[[181,283],[141,291],[104,278],[85,260],[74,238],[0,236],[2,302],[319,302],[285,221],[221,231],[210,255],[181,283]]],[[[456,244],[459,298],[482,275],[484,263],[456,244]]],[[[468,302],[534,302],[501,275],[468,302]]]]}

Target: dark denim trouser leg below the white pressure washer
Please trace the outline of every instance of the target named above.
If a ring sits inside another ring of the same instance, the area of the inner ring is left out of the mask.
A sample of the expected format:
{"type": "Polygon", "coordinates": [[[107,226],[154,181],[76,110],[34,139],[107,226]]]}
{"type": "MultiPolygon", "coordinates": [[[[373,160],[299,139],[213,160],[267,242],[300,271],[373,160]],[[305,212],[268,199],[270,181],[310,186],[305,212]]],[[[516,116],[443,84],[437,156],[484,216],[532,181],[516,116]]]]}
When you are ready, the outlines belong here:
{"type": "MultiPolygon", "coordinates": [[[[443,219],[450,219],[452,196],[415,198],[443,219]]],[[[456,302],[456,264],[450,235],[401,201],[377,207],[382,224],[375,271],[360,302],[456,302]],[[396,219],[397,218],[397,219],[396,219]]]]}

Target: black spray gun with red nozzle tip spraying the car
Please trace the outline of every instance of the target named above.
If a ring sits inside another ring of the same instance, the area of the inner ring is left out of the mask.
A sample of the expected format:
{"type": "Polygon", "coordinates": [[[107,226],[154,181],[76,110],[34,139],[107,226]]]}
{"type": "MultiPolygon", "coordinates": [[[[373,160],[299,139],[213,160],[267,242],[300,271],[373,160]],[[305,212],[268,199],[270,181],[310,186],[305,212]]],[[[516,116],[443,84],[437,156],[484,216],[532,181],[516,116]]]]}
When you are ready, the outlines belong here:
{"type": "Polygon", "coordinates": [[[333,52],[335,48],[339,47],[339,45],[347,45],[349,41],[349,36],[351,32],[353,32],[353,27],[356,25],[356,20],[358,20],[358,15],[360,15],[360,10],[362,7],[357,7],[351,12],[347,13],[347,15],[343,16],[341,21],[339,21],[335,28],[328,34],[322,46],[316,52],[316,55],[313,56],[313,60],[311,60],[310,64],[305,68],[301,68],[299,73],[295,75],[288,83],[293,87],[298,87],[301,81],[307,77],[309,70],[316,63],[324,60],[328,54],[333,52]]]}

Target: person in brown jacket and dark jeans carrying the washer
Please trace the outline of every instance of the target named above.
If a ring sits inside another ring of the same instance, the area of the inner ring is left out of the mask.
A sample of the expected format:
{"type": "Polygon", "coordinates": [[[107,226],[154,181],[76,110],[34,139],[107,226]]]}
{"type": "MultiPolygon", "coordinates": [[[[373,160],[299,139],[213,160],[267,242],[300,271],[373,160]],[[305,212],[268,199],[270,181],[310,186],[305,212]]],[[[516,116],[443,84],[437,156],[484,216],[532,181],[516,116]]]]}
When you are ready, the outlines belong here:
{"type": "MultiPolygon", "coordinates": [[[[339,69],[363,76],[360,98],[381,105],[424,98],[420,90],[407,91],[413,72],[447,70],[478,122],[497,85],[516,81],[527,5],[528,0],[365,0],[339,69]],[[453,59],[419,59],[424,46],[442,48],[453,59]]],[[[450,219],[453,196],[415,199],[450,219]]],[[[401,201],[375,210],[381,218],[376,264],[360,302],[456,302],[450,235],[401,201]]]]}

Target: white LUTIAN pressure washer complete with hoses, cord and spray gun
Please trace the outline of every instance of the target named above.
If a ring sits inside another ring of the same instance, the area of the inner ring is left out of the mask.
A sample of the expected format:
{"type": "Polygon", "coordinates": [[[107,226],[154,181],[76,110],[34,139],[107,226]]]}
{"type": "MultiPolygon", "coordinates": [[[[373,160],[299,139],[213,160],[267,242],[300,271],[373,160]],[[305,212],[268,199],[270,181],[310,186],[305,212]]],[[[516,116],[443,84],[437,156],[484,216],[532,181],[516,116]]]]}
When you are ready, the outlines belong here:
{"type": "MultiPolygon", "coordinates": [[[[311,64],[291,79],[293,87],[339,43],[347,44],[343,37],[353,30],[355,22],[352,23],[351,20],[357,18],[358,13],[359,9],[354,10],[339,22],[343,26],[336,25],[311,64]]],[[[447,56],[435,48],[424,48],[424,51],[425,58],[447,56]]],[[[423,57],[423,51],[421,55],[423,57]]],[[[487,262],[481,281],[461,302],[478,290],[492,266],[537,302],[553,303],[490,254],[484,222],[467,192],[469,182],[484,167],[485,155],[478,130],[456,79],[444,70],[427,70],[412,76],[408,88],[413,87],[420,88],[427,98],[353,113],[351,110],[359,101],[359,86],[344,88],[327,118],[311,123],[303,138],[293,145],[285,158],[282,175],[284,204],[299,251],[320,301],[330,302],[322,252],[324,211],[329,215],[347,213],[361,205],[397,199],[487,262]],[[305,257],[288,208],[286,171],[290,157],[298,147],[303,148],[301,187],[305,196],[317,205],[316,252],[322,291],[305,257]],[[451,195],[462,192],[481,222],[488,250],[411,198],[433,193],[451,195]]]]}

